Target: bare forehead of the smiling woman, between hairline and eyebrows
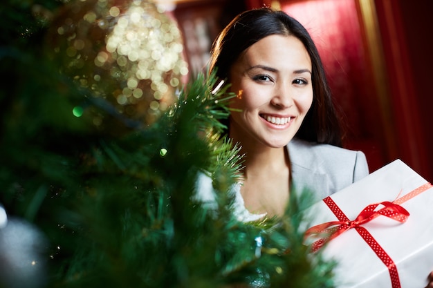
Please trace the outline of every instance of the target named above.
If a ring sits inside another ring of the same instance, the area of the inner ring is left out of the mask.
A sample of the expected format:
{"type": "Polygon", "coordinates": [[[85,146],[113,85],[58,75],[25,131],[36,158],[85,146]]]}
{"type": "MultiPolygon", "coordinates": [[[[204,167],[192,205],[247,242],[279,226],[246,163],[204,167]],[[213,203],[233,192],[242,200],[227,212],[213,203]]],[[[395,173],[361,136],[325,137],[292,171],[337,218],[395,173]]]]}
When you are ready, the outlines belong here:
{"type": "Polygon", "coordinates": [[[250,66],[269,65],[285,68],[309,68],[311,58],[300,41],[292,35],[270,35],[247,48],[239,57],[240,62],[250,66]]]}

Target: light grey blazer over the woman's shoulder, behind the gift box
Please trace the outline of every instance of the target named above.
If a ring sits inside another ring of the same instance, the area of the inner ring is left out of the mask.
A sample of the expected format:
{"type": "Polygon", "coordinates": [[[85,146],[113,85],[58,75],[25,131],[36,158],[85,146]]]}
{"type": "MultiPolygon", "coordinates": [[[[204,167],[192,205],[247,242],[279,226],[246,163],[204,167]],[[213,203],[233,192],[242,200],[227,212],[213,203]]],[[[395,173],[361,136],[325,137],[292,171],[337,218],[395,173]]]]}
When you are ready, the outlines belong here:
{"type": "Polygon", "coordinates": [[[287,145],[294,191],[308,189],[317,200],[340,191],[369,174],[361,151],[293,139],[287,145]]]}

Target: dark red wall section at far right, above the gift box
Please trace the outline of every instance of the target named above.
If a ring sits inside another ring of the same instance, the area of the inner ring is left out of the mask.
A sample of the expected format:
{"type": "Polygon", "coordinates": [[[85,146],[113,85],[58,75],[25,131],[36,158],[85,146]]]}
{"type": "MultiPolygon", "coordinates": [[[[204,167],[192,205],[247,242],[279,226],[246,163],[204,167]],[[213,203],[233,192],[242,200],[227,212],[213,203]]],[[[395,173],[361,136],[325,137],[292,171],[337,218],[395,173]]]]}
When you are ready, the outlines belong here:
{"type": "Polygon", "coordinates": [[[433,1],[376,0],[398,155],[433,181],[433,1]],[[431,44],[430,44],[431,45],[431,44]]]}

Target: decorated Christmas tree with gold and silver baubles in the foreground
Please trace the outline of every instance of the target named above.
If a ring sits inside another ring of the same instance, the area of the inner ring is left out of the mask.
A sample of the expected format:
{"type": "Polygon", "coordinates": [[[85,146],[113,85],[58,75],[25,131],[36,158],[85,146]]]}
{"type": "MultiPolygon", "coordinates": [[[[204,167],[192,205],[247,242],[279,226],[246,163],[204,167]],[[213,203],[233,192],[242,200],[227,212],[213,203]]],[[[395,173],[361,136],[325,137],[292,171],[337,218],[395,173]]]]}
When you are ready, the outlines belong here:
{"type": "Polygon", "coordinates": [[[307,196],[281,219],[230,211],[232,95],[214,75],[181,86],[178,34],[154,4],[2,6],[0,287],[332,287],[333,264],[303,244],[307,196]],[[140,28],[119,40],[119,26],[140,28]]]}

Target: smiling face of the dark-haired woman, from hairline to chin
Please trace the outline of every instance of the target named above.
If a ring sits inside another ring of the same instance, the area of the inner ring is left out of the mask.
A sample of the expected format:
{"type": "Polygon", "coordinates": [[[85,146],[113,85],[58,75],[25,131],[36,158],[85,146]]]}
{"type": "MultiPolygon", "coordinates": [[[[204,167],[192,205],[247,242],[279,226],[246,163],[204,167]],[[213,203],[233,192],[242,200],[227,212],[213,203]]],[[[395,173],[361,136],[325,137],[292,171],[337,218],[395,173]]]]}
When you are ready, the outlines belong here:
{"type": "Polygon", "coordinates": [[[311,59],[293,36],[270,35],[230,69],[230,137],[242,146],[286,146],[313,102],[311,59]]]}

